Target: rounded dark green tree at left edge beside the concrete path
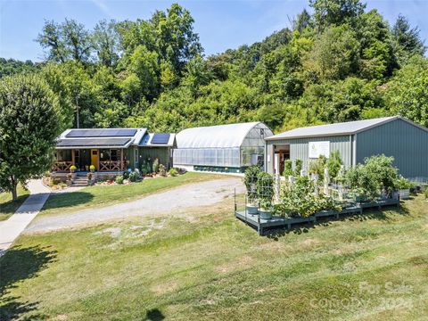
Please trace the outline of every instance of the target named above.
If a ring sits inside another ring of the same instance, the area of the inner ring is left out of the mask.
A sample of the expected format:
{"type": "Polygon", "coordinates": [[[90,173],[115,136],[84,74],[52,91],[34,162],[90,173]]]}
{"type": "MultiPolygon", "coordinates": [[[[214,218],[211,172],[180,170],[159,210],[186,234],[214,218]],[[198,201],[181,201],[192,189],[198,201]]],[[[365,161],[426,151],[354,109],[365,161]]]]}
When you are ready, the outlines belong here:
{"type": "Polygon", "coordinates": [[[0,186],[12,192],[52,164],[59,134],[58,103],[45,81],[36,75],[0,82],[0,186]]]}

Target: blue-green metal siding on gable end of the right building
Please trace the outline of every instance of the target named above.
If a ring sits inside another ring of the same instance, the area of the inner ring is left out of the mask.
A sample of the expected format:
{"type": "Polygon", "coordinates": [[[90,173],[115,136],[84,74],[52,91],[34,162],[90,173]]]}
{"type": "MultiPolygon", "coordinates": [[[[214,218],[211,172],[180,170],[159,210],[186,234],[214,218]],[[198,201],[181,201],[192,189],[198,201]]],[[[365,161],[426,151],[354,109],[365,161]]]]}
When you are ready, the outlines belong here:
{"type": "Polygon", "coordinates": [[[396,119],[357,135],[357,162],[376,154],[393,156],[404,177],[428,178],[428,132],[405,120],[396,119]]]}

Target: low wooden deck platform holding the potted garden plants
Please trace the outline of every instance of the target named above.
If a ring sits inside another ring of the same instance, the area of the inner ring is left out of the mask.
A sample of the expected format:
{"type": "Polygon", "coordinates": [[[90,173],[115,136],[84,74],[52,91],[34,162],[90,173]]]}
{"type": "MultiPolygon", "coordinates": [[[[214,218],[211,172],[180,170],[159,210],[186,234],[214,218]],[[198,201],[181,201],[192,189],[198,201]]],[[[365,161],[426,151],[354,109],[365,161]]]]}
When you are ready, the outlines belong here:
{"type": "Polygon", "coordinates": [[[239,218],[247,225],[255,228],[259,235],[271,229],[290,229],[294,224],[315,223],[317,218],[334,217],[339,218],[341,215],[362,214],[364,209],[382,208],[383,206],[399,206],[399,200],[384,200],[379,202],[359,203],[354,206],[343,209],[342,211],[321,210],[309,218],[283,218],[274,216],[271,219],[260,218],[259,215],[248,214],[246,210],[236,210],[235,218],[239,218]]]}

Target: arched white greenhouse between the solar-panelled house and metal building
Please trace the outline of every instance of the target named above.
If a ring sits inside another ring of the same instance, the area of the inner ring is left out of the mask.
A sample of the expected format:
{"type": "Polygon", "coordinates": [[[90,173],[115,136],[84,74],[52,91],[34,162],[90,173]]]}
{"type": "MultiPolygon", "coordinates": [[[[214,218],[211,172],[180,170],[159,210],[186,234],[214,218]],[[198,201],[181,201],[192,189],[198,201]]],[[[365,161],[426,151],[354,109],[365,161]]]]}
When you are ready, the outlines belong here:
{"type": "Polygon", "coordinates": [[[263,166],[265,138],[272,135],[261,122],[187,128],[177,134],[174,167],[239,173],[263,166]]]}

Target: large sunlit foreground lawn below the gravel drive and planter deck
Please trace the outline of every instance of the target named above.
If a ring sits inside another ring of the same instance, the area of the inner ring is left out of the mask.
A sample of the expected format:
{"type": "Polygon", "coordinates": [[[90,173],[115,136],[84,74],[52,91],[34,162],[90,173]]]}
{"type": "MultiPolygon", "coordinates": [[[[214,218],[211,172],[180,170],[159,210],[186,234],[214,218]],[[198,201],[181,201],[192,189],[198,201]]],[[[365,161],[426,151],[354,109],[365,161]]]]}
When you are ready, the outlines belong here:
{"type": "Polygon", "coordinates": [[[23,235],[0,259],[0,319],[426,320],[422,195],[269,237],[232,205],[23,235]]]}

